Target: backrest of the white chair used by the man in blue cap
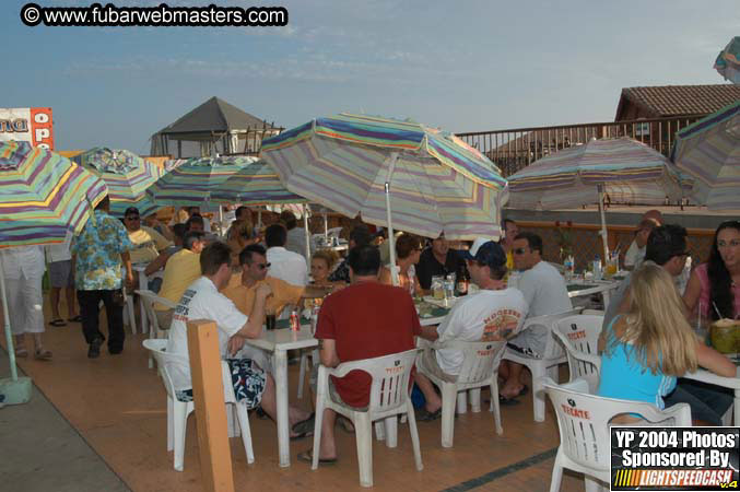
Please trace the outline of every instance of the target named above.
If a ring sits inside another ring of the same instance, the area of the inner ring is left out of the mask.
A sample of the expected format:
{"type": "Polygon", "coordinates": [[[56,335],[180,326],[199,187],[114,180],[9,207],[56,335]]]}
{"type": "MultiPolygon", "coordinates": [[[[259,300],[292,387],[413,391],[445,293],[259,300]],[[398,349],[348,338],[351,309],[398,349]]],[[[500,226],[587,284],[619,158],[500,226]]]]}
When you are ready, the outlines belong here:
{"type": "Polygon", "coordinates": [[[475,385],[489,380],[498,368],[505,348],[506,341],[468,342],[450,340],[435,344],[435,349],[451,349],[462,352],[462,366],[457,376],[458,389],[465,389],[465,385],[475,385]]]}

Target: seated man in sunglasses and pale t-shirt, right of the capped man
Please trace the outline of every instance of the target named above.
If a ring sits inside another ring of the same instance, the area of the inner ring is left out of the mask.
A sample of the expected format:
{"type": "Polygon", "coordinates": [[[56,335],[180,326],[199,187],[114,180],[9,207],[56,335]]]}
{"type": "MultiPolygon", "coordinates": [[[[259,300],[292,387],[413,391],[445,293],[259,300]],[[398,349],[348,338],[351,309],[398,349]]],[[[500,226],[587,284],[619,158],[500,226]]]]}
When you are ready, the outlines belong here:
{"type": "MultiPolygon", "coordinates": [[[[524,232],[514,239],[514,265],[522,271],[518,289],[529,306],[527,317],[533,318],[573,309],[568,297],[565,279],[547,261],[542,260],[542,238],[537,234],[524,232]]],[[[514,337],[508,345],[531,358],[539,359],[551,337],[545,326],[531,326],[514,337]]],[[[504,361],[498,373],[506,379],[501,389],[502,402],[508,403],[513,398],[527,391],[521,380],[521,364],[504,361]]]]}

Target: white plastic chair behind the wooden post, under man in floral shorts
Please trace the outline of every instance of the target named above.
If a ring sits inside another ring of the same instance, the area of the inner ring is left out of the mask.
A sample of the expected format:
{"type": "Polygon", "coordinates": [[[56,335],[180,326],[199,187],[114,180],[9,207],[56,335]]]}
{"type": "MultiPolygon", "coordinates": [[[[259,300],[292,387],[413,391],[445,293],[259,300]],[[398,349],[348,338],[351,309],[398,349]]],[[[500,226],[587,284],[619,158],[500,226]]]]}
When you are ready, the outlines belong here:
{"type": "MultiPolygon", "coordinates": [[[[185,460],[185,437],[188,429],[188,415],[196,409],[192,401],[179,401],[175,396],[175,385],[172,382],[167,363],[189,361],[185,358],[179,358],[166,352],[167,340],[150,339],[144,340],[143,345],[156,360],[156,365],[160,368],[160,375],[164,383],[164,388],[167,391],[167,450],[175,452],[174,468],[177,471],[183,471],[183,462],[185,460]]],[[[225,361],[221,361],[223,383],[224,383],[224,402],[226,405],[234,405],[236,410],[236,418],[238,421],[237,429],[240,430],[242,442],[244,443],[244,450],[247,455],[247,462],[255,462],[255,452],[251,447],[251,432],[249,430],[249,414],[247,407],[244,403],[236,401],[234,396],[234,386],[232,384],[231,371],[225,361]]],[[[231,422],[231,412],[226,412],[231,422]]],[[[230,432],[230,437],[235,432],[230,432]]]]}

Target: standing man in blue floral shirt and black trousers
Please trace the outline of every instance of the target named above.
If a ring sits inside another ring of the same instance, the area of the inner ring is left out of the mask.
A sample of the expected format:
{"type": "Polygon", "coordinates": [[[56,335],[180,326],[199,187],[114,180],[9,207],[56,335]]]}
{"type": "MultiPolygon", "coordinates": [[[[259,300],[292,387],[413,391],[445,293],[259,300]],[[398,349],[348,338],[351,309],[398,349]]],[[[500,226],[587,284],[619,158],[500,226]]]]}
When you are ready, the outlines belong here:
{"type": "Polygon", "coordinates": [[[124,351],[122,268],[126,268],[126,283],[133,285],[129,255],[133,244],[120,221],[108,214],[109,210],[110,199],[106,196],[72,243],[74,285],[82,316],[82,332],[90,345],[90,359],[99,356],[105,340],[98,328],[101,301],[105,304],[108,319],[108,352],[115,355],[124,351]]]}

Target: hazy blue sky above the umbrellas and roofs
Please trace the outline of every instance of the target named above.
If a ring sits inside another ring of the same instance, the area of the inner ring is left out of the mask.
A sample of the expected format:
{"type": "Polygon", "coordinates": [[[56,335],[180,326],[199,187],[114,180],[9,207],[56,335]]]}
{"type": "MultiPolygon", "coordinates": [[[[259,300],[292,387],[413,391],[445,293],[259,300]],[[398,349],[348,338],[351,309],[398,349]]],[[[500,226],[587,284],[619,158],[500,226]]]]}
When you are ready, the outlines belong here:
{"type": "Polygon", "coordinates": [[[714,60],[740,35],[739,0],[167,2],[281,5],[283,27],[28,27],[25,3],[0,5],[0,107],[50,106],[56,150],[143,154],[212,96],[286,128],[340,112],[454,132],[610,121],[622,87],[724,83],[714,60]]]}

